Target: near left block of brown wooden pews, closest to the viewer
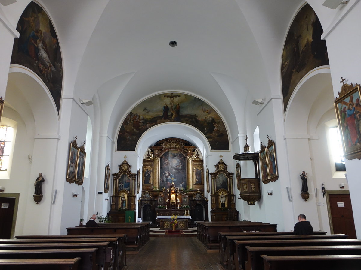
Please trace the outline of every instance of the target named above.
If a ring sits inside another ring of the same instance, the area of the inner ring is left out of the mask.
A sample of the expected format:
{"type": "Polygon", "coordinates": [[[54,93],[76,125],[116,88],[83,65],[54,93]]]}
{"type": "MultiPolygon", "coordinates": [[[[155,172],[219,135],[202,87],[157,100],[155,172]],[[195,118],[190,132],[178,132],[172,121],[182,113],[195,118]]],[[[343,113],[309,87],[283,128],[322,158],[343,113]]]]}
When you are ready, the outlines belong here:
{"type": "Polygon", "coordinates": [[[19,235],[0,240],[0,269],[121,270],[127,235],[19,235]]]}

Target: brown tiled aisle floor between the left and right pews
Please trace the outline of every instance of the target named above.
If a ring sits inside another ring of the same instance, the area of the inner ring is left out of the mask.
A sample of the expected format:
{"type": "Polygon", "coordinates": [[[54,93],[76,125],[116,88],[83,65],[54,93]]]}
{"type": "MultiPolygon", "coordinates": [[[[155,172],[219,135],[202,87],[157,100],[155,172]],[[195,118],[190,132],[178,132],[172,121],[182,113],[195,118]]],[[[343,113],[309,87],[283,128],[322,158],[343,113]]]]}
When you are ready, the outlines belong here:
{"type": "Polygon", "coordinates": [[[151,237],[127,270],[218,270],[219,253],[207,253],[196,237],[151,237]]]}

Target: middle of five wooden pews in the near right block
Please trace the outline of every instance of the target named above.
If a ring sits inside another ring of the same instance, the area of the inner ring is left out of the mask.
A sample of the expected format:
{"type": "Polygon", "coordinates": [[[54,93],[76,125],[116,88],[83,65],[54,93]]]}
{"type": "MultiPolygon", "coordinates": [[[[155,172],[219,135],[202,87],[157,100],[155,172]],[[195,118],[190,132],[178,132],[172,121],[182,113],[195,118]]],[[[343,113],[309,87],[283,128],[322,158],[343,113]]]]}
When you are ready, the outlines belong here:
{"type": "MultiPolygon", "coordinates": [[[[245,269],[247,258],[246,246],[249,247],[287,247],[287,246],[351,246],[361,245],[357,239],[295,239],[295,240],[234,240],[236,250],[234,266],[229,264],[229,269],[245,269]],[[232,268],[234,267],[234,268],[232,268]]],[[[229,261],[230,262],[230,261],[229,261]]]]}

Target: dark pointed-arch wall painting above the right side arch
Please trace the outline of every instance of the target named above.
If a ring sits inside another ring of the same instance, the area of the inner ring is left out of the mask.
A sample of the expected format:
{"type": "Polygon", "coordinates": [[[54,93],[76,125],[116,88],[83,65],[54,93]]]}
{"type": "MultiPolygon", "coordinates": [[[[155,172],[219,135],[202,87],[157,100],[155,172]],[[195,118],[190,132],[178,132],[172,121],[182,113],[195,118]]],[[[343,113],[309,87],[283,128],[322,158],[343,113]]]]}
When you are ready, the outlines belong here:
{"type": "Polygon", "coordinates": [[[321,23],[309,4],[303,6],[287,33],[282,53],[284,111],[299,81],[312,69],[329,65],[321,23]]]}

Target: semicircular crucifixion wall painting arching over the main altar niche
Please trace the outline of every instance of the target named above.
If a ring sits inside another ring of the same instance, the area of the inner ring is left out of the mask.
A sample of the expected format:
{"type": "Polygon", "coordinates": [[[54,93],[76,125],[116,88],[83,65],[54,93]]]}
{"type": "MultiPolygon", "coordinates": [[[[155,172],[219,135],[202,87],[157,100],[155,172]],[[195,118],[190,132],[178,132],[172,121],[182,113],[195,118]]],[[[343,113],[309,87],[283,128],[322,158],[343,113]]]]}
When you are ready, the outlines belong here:
{"type": "Polygon", "coordinates": [[[229,150],[226,126],[219,114],[203,100],[183,93],[155,95],[136,105],[120,127],[117,150],[135,150],[145,131],[171,122],[186,123],[201,131],[212,150],[229,150]]]}

